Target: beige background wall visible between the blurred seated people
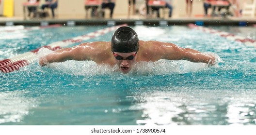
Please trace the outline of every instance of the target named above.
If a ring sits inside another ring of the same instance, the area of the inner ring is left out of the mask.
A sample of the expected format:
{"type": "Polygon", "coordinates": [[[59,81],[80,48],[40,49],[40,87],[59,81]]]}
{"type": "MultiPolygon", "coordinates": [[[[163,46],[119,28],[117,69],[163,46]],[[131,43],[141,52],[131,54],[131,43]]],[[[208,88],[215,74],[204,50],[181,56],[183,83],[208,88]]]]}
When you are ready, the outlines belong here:
{"type": "MultiPolygon", "coordinates": [[[[0,15],[3,14],[3,1],[1,0],[0,4],[0,15]]],[[[23,7],[22,3],[27,0],[14,0],[14,16],[22,17],[23,16],[23,7]]],[[[40,0],[40,3],[44,3],[45,0],[40,0]]],[[[173,16],[182,17],[186,16],[186,0],[173,0],[173,16]]],[[[242,1],[242,0],[241,0],[242,1]]],[[[144,0],[136,0],[137,9],[141,5],[144,5],[144,0]]],[[[192,16],[198,14],[204,14],[203,11],[203,0],[193,0],[192,6],[192,16]]],[[[71,17],[71,18],[85,18],[85,9],[84,9],[84,0],[59,0],[57,14],[62,17],[71,17]]],[[[211,13],[211,12],[209,12],[211,13]]],[[[128,0],[116,0],[116,6],[114,9],[114,18],[119,16],[126,16],[128,14],[128,0]]],[[[106,15],[108,17],[108,15],[106,15]]]]}

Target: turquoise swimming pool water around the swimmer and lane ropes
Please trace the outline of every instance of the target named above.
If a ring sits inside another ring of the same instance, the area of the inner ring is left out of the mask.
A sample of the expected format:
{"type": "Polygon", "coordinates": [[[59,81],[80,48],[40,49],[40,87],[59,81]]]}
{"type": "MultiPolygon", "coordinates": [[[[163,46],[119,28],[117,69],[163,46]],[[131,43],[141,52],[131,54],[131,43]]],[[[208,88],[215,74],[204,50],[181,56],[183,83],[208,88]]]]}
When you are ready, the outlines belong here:
{"type": "MultiPolygon", "coordinates": [[[[0,59],[106,26],[0,33],[0,59]]],[[[91,61],[37,62],[0,73],[1,125],[256,125],[256,48],[186,26],[133,26],[140,40],[173,42],[219,56],[138,63],[129,74],[91,61]]],[[[256,40],[253,27],[213,27],[256,40]]],[[[113,32],[87,40],[109,41],[113,32]]],[[[70,46],[77,45],[74,43],[70,46]]],[[[51,51],[41,49],[39,55],[51,51]]]]}

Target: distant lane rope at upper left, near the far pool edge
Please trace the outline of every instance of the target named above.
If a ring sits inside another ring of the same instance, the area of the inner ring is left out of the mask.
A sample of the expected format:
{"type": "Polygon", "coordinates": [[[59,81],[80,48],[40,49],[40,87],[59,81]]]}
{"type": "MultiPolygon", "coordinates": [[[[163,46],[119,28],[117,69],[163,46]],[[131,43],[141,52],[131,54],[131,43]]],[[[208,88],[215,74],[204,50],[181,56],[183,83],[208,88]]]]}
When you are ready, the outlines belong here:
{"type": "Polygon", "coordinates": [[[5,26],[0,27],[0,32],[15,32],[15,31],[23,31],[23,30],[37,30],[43,28],[51,28],[51,27],[61,27],[61,24],[48,25],[48,26],[38,26],[38,27],[24,27],[24,26],[5,26]]]}

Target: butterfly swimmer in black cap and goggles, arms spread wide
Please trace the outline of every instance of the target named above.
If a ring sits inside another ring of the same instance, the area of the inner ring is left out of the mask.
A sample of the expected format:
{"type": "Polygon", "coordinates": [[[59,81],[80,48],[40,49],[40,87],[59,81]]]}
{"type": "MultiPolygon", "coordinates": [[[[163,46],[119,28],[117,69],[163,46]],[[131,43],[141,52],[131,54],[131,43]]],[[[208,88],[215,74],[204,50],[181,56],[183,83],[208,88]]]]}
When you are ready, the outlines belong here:
{"type": "Polygon", "coordinates": [[[188,60],[215,64],[215,57],[173,43],[155,40],[139,40],[137,33],[130,27],[118,28],[111,41],[85,42],[80,45],[63,48],[39,59],[41,66],[66,60],[92,60],[98,65],[117,65],[127,74],[136,62],[155,62],[160,59],[188,60]]]}

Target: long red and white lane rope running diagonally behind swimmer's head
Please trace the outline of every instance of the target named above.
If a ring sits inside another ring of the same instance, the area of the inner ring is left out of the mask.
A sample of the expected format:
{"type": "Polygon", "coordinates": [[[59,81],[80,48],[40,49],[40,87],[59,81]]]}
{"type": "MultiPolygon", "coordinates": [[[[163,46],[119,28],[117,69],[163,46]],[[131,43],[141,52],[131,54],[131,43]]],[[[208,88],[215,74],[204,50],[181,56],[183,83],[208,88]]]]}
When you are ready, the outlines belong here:
{"type": "MultiPolygon", "coordinates": [[[[110,31],[116,30],[117,28],[122,27],[122,26],[127,26],[127,24],[113,26],[113,27],[107,27],[107,28],[100,29],[95,32],[91,32],[91,33],[88,33],[88,34],[85,34],[82,36],[74,37],[74,38],[67,39],[67,40],[53,42],[53,43],[48,44],[47,46],[43,46],[40,48],[48,48],[53,51],[58,50],[58,49],[61,49],[63,47],[66,47],[66,46],[76,43],[76,42],[90,40],[90,39],[98,37],[100,35],[104,35],[110,31]]],[[[0,71],[3,73],[9,73],[9,72],[18,70],[20,67],[24,67],[26,65],[33,63],[34,61],[38,60],[37,53],[40,48],[35,49],[31,52],[19,54],[14,57],[11,57],[11,58],[1,60],[0,61],[0,71]]]]}

